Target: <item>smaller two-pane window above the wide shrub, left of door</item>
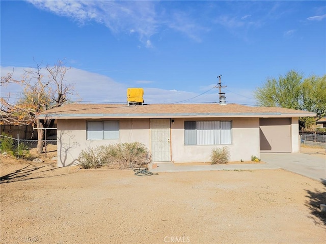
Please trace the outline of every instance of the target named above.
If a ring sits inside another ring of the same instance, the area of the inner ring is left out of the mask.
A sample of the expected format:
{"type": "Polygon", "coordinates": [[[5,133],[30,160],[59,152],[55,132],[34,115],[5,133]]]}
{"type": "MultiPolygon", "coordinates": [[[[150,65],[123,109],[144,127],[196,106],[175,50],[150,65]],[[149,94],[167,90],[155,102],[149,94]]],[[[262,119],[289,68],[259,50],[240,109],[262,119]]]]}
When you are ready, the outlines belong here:
{"type": "Polygon", "coordinates": [[[87,139],[119,139],[119,120],[88,121],[87,139]]]}

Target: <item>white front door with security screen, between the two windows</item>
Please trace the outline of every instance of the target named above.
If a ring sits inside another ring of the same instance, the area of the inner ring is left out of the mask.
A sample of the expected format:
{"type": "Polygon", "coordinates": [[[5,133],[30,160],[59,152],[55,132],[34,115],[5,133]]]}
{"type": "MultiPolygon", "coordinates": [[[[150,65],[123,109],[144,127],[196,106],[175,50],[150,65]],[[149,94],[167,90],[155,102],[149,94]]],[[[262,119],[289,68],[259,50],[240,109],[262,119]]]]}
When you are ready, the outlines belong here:
{"type": "Polygon", "coordinates": [[[170,119],[150,119],[150,132],[152,162],[171,161],[170,119]]]}

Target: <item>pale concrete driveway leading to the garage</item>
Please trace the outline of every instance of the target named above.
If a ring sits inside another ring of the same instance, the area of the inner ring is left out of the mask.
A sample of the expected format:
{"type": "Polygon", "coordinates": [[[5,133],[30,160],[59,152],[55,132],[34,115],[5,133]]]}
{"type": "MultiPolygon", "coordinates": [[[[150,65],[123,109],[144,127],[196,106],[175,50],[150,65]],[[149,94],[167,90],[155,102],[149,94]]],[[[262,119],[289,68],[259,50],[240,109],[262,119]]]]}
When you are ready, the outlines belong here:
{"type": "Polygon", "coordinates": [[[326,184],[326,156],[301,153],[264,153],[262,161],[326,184]]]}

